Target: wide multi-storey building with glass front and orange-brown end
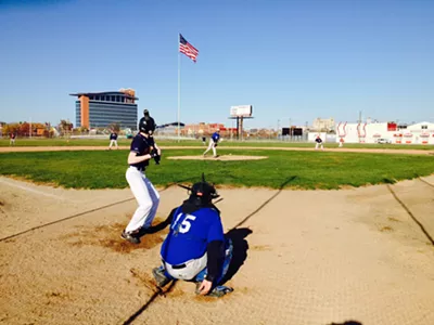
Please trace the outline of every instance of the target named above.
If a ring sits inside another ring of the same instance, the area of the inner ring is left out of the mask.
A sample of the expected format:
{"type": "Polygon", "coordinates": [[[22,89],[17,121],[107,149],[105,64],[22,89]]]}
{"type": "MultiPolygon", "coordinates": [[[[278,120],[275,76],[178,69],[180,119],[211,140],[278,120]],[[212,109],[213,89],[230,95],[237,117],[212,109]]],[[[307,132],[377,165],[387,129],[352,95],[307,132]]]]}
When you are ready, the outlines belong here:
{"type": "Polygon", "coordinates": [[[104,92],[72,93],[75,102],[76,127],[106,128],[116,122],[120,128],[137,129],[136,92],[132,89],[104,92]]]}

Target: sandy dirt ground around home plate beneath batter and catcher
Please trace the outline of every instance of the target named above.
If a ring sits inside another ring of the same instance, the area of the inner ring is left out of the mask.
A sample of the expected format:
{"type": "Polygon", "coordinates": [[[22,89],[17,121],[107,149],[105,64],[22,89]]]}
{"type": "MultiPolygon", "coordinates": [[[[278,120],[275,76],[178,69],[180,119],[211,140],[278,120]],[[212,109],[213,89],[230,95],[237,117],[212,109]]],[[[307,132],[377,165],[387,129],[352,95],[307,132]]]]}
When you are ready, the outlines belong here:
{"type": "MultiPolygon", "coordinates": [[[[166,230],[119,234],[129,190],[0,178],[2,324],[434,324],[434,176],[341,191],[221,188],[234,242],[221,299],[178,282],[158,292],[166,230]]],[[[155,223],[186,197],[161,190],[155,223]]]]}

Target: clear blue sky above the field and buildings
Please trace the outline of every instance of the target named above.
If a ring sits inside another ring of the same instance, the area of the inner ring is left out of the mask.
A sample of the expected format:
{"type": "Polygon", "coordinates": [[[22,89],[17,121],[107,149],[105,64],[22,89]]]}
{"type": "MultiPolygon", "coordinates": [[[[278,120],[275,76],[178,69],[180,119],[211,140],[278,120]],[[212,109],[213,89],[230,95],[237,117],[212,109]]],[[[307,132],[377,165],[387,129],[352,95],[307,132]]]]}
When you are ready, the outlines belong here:
{"type": "Polygon", "coordinates": [[[434,122],[434,1],[0,1],[0,120],[75,122],[69,93],[132,88],[139,112],[250,127],[434,122]]]}

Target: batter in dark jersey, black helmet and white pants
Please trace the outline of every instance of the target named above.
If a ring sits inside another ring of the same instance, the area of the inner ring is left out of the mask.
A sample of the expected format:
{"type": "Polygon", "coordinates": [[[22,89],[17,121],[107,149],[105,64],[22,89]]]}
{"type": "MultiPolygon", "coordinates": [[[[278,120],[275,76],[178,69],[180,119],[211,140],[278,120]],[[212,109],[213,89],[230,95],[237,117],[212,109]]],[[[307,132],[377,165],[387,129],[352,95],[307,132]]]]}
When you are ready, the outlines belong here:
{"type": "Polygon", "coordinates": [[[155,153],[151,153],[149,132],[150,125],[144,119],[140,120],[139,133],[132,139],[128,155],[129,168],[126,179],[139,207],[122,233],[122,237],[132,244],[140,243],[140,234],[151,226],[159,204],[159,194],[144,173],[149,160],[156,156],[155,153]]]}

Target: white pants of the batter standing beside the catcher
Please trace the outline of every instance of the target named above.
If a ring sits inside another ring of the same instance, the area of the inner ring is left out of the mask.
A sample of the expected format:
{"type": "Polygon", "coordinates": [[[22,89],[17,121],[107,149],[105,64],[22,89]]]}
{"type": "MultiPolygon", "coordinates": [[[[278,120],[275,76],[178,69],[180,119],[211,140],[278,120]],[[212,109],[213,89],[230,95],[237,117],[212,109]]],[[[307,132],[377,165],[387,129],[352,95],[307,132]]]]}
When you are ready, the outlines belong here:
{"type": "Polygon", "coordinates": [[[151,181],[146,179],[144,172],[136,167],[127,169],[126,179],[139,207],[125,231],[128,233],[141,227],[150,227],[158,208],[159,194],[151,181]]]}

